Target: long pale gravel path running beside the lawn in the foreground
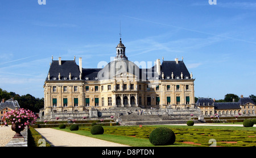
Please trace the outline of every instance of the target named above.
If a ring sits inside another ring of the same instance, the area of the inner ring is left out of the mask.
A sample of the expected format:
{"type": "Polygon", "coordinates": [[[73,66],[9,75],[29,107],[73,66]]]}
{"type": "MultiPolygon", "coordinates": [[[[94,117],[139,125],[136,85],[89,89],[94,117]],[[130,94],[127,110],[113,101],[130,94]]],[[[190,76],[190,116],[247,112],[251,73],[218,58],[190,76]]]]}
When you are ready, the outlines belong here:
{"type": "Polygon", "coordinates": [[[53,128],[35,128],[44,139],[55,147],[128,147],[118,143],[90,138],[53,128]]]}

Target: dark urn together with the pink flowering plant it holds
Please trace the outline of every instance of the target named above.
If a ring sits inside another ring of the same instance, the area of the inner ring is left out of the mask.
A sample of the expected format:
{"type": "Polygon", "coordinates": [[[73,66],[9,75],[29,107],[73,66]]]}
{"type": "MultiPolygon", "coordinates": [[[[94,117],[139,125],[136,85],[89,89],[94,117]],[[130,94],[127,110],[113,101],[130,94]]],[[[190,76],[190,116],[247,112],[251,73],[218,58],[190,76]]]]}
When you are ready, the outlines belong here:
{"type": "Polygon", "coordinates": [[[20,132],[23,131],[26,126],[29,128],[30,124],[35,124],[36,115],[31,110],[22,108],[5,113],[3,119],[7,123],[10,122],[12,124],[11,130],[16,132],[13,138],[23,138],[20,132]]]}

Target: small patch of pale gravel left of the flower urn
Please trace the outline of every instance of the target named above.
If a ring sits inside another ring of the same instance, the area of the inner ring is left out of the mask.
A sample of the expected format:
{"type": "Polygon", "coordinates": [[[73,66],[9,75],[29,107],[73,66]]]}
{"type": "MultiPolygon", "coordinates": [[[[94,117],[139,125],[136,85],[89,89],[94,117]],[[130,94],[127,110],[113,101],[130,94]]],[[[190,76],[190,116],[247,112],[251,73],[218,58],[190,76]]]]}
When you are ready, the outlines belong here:
{"type": "Polygon", "coordinates": [[[9,143],[11,139],[13,139],[14,135],[15,132],[11,130],[11,126],[0,127],[0,147],[5,147],[5,145],[9,143]]]}

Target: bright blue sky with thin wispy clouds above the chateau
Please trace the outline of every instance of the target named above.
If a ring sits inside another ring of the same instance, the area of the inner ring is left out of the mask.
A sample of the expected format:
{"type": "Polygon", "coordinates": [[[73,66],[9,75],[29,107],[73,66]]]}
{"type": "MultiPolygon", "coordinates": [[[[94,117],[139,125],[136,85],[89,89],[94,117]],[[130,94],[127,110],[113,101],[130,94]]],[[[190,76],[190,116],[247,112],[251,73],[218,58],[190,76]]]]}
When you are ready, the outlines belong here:
{"type": "Polygon", "coordinates": [[[256,2],[216,2],[1,0],[0,88],[44,97],[51,56],[82,57],[83,68],[109,63],[121,21],[130,61],[183,56],[196,97],[256,95],[256,2]]]}

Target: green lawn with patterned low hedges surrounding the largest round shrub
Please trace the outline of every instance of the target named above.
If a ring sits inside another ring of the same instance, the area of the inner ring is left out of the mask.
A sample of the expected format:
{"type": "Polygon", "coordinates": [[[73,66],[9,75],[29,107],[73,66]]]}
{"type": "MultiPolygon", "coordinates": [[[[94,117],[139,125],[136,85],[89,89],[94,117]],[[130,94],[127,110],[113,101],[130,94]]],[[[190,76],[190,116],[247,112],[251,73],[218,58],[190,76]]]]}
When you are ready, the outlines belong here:
{"type": "Polygon", "coordinates": [[[226,126],[103,126],[103,135],[90,134],[90,127],[79,127],[79,131],[69,128],[59,129],[92,138],[107,140],[133,147],[152,147],[148,136],[156,127],[168,127],[174,131],[176,141],[172,147],[197,146],[208,147],[209,140],[216,140],[217,146],[251,147],[256,146],[255,127],[226,127],[226,126]]]}

